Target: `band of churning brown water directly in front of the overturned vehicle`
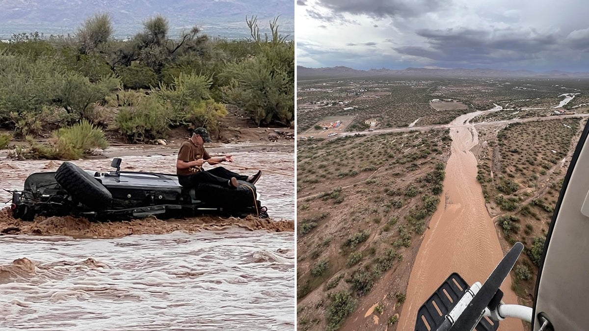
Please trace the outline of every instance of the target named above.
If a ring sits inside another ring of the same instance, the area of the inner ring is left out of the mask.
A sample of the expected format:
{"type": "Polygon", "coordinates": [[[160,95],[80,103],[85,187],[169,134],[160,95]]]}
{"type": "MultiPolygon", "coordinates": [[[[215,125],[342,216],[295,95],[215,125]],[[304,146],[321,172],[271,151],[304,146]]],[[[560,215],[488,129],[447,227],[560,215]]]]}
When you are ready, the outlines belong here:
{"type": "Polygon", "coordinates": [[[15,220],[9,208],[0,210],[0,235],[32,234],[39,236],[71,236],[83,238],[117,238],[131,234],[165,234],[174,231],[194,233],[202,230],[223,230],[229,227],[241,227],[247,230],[266,230],[272,232],[294,231],[294,221],[257,219],[248,216],[245,219],[230,217],[193,217],[185,220],[159,220],[149,217],[143,220],[95,223],[87,219],[65,217],[37,217],[34,221],[15,220]]]}

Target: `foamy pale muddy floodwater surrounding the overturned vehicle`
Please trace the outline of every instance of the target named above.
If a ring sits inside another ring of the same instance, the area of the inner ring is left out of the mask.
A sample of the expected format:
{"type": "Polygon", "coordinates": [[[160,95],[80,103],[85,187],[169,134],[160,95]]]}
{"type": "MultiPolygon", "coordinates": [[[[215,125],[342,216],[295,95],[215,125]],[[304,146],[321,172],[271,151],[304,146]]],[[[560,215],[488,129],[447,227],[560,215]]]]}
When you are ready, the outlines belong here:
{"type": "MultiPolygon", "coordinates": [[[[30,233],[62,235],[0,237],[0,329],[293,330],[293,144],[211,144],[207,150],[233,154],[235,163],[224,164],[230,170],[263,171],[256,187],[270,221],[97,224],[63,217],[21,223],[30,233]],[[68,231],[60,233],[60,226],[68,231]]],[[[176,151],[111,147],[107,158],[74,163],[105,172],[112,157],[121,157],[123,171],[175,173],[176,151]]],[[[22,190],[29,174],[61,164],[0,157],[0,187],[9,190],[22,190]]],[[[1,203],[9,198],[0,193],[1,203]]],[[[0,223],[9,222],[7,215],[0,213],[0,223]]]]}

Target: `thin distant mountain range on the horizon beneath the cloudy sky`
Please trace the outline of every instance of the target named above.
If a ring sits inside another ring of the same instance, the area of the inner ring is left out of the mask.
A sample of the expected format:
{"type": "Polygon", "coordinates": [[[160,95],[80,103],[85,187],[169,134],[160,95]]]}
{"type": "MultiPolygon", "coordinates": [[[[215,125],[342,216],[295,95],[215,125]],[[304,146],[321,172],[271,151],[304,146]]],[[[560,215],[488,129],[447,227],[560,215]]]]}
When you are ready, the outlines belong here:
{"type": "Polygon", "coordinates": [[[312,79],[321,77],[362,77],[386,75],[395,77],[441,77],[441,78],[460,78],[460,77],[488,77],[488,78],[589,78],[589,72],[565,72],[565,71],[546,71],[534,72],[530,70],[504,70],[504,69],[426,69],[426,68],[406,68],[401,70],[392,69],[370,69],[358,70],[349,67],[332,67],[332,68],[306,68],[297,66],[297,77],[300,79],[312,79]]]}

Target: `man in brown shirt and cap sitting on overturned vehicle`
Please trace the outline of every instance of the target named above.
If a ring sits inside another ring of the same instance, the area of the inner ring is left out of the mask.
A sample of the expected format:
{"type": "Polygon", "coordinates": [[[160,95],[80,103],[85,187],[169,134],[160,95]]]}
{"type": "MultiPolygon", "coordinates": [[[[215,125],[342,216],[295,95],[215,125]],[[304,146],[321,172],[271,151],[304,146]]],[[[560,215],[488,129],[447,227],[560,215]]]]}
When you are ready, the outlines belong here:
{"type": "Polygon", "coordinates": [[[253,176],[245,176],[223,167],[203,170],[203,164],[205,162],[211,165],[224,161],[233,162],[231,155],[211,157],[204,149],[205,142],[211,142],[209,132],[205,128],[196,128],[192,137],[184,141],[180,146],[176,161],[176,174],[178,175],[178,182],[181,186],[194,187],[199,183],[212,183],[235,188],[239,186],[237,180],[255,184],[260,179],[260,176],[262,176],[262,171],[258,171],[253,176]]]}

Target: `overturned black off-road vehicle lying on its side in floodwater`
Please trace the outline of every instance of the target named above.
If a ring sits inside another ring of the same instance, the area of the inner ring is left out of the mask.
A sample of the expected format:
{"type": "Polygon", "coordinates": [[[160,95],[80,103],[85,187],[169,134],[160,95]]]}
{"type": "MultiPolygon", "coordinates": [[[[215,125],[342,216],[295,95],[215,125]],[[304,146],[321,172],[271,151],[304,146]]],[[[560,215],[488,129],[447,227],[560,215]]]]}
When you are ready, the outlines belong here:
{"type": "Polygon", "coordinates": [[[256,187],[245,181],[239,181],[237,188],[207,183],[187,189],[178,184],[176,175],[121,171],[120,158],[114,158],[111,166],[116,170],[98,173],[64,162],[55,172],[31,174],[24,190],[11,191],[12,214],[22,220],[37,214],[97,220],[199,214],[268,217],[257,200],[256,187]]]}

